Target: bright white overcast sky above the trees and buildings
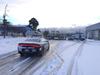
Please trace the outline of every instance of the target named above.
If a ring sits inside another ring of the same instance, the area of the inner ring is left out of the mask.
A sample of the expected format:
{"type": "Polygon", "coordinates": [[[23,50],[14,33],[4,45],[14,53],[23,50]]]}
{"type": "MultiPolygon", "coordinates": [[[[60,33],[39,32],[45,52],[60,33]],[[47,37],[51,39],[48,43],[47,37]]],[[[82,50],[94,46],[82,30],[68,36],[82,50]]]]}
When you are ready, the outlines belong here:
{"type": "Polygon", "coordinates": [[[100,22],[99,0],[0,0],[0,15],[8,4],[7,15],[14,24],[28,24],[35,17],[39,27],[84,26],[100,22]]]}

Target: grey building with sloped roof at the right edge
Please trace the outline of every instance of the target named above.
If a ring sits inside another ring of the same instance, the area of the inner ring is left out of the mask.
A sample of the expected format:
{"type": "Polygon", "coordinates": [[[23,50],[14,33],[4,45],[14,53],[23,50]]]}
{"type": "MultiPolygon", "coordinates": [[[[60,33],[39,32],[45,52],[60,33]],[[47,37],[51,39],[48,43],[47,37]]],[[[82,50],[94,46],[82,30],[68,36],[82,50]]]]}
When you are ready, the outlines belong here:
{"type": "Polygon", "coordinates": [[[100,23],[88,26],[86,28],[86,36],[88,39],[100,40],[100,23]]]}

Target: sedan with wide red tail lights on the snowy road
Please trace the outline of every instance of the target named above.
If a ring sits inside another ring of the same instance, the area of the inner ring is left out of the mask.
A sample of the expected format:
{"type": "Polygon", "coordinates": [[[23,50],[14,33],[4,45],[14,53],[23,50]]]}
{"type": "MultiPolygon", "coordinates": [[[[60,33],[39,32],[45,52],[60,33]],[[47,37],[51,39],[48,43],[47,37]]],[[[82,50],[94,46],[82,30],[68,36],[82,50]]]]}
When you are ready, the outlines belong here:
{"type": "Polygon", "coordinates": [[[43,56],[48,50],[49,41],[41,37],[28,38],[24,42],[18,44],[18,53],[20,53],[21,56],[26,54],[43,56]]]}

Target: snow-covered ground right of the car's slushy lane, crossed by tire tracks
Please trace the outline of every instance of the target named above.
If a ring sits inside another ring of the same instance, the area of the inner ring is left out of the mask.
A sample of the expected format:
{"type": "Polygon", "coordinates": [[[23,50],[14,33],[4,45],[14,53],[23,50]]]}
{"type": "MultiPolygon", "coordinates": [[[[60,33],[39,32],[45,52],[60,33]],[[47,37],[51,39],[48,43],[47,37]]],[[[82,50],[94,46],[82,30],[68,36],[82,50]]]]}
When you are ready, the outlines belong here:
{"type": "Polygon", "coordinates": [[[58,48],[65,49],[64,52],[55,54],[33,75],[100,75],[100,41],[87,40],[77,55],[81,42],[68,49],[65,44],[68,41],[58,48]]]}

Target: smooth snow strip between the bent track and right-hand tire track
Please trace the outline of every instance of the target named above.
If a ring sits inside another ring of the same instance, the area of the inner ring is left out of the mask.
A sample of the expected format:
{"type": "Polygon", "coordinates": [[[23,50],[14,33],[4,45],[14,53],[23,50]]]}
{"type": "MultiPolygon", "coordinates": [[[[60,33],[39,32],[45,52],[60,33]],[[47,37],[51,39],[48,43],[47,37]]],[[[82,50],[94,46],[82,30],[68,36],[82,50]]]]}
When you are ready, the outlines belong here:
{"type": "Polygon", "coordinates": [[[56,75],[70,75],[70,71],[74,62],[74,57],[79,46],[80,43],[77,43],[77,45],[74,45],[68,49],[65,47],[66,50],[60,55],[60,57],[64,60],[64,64],[56,75]]]}

